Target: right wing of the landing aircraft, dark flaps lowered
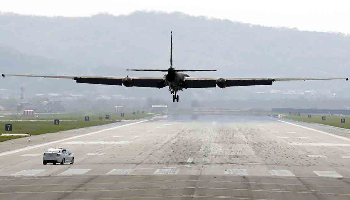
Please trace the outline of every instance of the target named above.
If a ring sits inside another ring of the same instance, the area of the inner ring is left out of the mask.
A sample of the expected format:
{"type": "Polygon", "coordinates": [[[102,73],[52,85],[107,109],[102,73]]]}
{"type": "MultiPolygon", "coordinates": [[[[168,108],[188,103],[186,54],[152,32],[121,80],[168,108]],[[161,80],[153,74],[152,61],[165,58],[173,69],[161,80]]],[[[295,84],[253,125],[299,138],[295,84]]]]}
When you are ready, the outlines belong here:
{"type": "Polygon", "coordinates": [[[189,77],[186,78],[184,88],[207,88],[222,84],[223,87],[250,86],[250,85],[272,85],[274,81],[306,81],[306,80],[345,80],[348,78],[208,78],[189,77]]]}

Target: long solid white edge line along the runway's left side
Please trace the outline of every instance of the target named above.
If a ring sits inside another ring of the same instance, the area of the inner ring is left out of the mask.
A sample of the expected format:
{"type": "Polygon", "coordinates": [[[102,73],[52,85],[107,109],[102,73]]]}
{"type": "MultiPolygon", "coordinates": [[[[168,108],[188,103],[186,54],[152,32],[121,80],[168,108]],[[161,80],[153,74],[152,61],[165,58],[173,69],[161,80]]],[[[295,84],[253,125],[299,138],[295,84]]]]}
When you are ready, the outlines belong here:
{"type": "Polygon", "coordinates": [[[93,135],[93,134],[101,133],[101,132],[104,132],[104,131],[110,131],[110,130],[121,128],[121,127],[125,127],[125,126],[131,126],[131,125],[134,125],[134,124],[140,124],[140,123],[146,122],[146,121],[149,121],[149,120],[142,120],[142,121],[138,121],[138,122],[134,122],[134,123],[130,123],[130,124],[125,124],[125,125],[116,126],[116,127],[112,127],[112,128],[102,129],[102,130],[91,132],[91,133],[86,133],[86,134],[82,134],[82,135],[76,135],[76,136],[72,136],[70,138],[65,138],[65,139],[62,139],[62,140],[56,140],[56,141],[46,142],[46,143],[43,143],[43,144],[33,145],[33,146],[29,146],[29,147],[23,147],[23,148],[15,149],[15,150],[12,150],[12,151],[6,151],[6,152],[0,153],[0,156],[9,155],[9,154],[13,154],[13,153],[18,153],[18,152],[21,152],[21,151],[28,151],[29,149],[34,149],[34,148],[38,148],[38,147],[49,146],[51,144],[56,144],[56,143],[59,143],[59,142],[64,142],[64,141],[68,141],[68,140],[72,140],[72,139],[76,139],[76,138],[81,138],[81,137],[84,137],[84,136],[93,135]]]}

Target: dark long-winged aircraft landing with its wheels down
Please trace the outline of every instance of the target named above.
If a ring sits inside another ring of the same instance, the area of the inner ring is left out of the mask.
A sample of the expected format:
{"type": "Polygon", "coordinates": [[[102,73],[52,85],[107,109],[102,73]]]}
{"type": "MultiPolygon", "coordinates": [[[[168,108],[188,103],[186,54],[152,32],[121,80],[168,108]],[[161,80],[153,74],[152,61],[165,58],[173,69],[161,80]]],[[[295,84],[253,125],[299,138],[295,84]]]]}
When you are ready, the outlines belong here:
{"type": "Polygon", "coordinates": [[[173,94],[173,102],[179,101],[177,92],[183,88],[209,88],[209,87],[232,87],[249,85],[272,85],[274,81],[301,81],[301,80],[335,80],[348,78],[212,78],[212,77],[190,77],[180,72],[212,72],[216,70],[187,70],[175,69],[173,67],[173,33],[170,32],[170,67],[168,69],[127,69],[128,71],[152,71],[168,72],[163,77],[115,77],[115,76],[52,76],[52,75],[25,75],[25,74],[1,74],[5,76],[29,76],[42,78],[73,79],[78,83],[102,84],[102,85],[124,85],[126,87],[169,87],[173,94]]]}

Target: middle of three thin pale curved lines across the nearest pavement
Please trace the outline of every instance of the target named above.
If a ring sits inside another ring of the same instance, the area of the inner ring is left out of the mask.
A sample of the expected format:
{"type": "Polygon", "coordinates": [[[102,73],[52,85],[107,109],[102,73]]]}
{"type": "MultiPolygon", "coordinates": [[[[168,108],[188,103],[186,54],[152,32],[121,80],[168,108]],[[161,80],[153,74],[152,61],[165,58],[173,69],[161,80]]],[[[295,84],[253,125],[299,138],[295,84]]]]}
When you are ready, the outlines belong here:
{"type": "Polygon", "coordinates": [[[2,192],[0,194],[35,194],[35,193],[82,193],[82,192],[115,192],[115,191],[152,191],[152,190],[172,190],[172,189],[215,189],[225,191],[253,191],[253,192],[272,192],[272,193],[300,193],[300,194],[327,194],[350,196],[350,193],[327,193],[327,192],[307,192],[307,191],[288,191],[288,190],[261,190],[261,189],[242,189],[242,188],[225,188],[225,187],[169,187],[169,188],[128,188],[128,189],[101,189],[101,190],[82,190],[82,191],[28,191],[28,192],[2,192]]]}

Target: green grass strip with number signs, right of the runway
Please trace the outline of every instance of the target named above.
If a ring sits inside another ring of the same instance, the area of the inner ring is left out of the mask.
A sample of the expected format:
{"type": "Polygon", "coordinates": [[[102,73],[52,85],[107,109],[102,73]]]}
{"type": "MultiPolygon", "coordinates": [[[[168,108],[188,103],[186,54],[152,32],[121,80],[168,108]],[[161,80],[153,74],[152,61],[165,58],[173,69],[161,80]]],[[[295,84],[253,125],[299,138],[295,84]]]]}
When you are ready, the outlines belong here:
{"type": "Polygon", "coordinates": [[[301,116],[297,116],[297,115],[283,116],[283,118],[292,119],[292,120],[296,120],[296,121],[313,122],[313,123],[317,123],[317,124],[325,124],[325,125],[350,129],[350,116],[348,116],[348,115],[330,116],[330,115],[315,115],[314,114],[314,115],[311,115],[311,118],[308,118],[307,114],[302,114],[301,116]],[[326,116],[325,121],[322,121],[322,116],[326,116]],[[341,123],[342,118],[345,118],[345,123],[341,123]]]}

